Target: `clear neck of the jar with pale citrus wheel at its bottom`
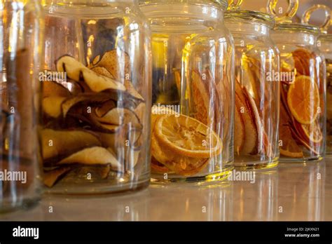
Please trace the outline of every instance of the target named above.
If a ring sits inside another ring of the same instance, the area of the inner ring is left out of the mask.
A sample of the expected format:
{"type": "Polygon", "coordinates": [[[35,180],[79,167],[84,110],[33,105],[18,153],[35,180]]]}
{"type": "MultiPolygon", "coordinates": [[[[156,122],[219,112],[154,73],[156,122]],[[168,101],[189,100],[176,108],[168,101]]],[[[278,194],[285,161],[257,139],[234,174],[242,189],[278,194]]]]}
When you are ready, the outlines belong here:
{"type": "Polygon", "coordinates": [[[164,20],[171,18],[188,18],[191,20],[209,20],[219,22],[223,20],[223,9],[210,6],[208,4],[191,4],[191,3],[173,3],[167,4],[146,4],[141,6],[141,11],[150,20],[164,20]]]}

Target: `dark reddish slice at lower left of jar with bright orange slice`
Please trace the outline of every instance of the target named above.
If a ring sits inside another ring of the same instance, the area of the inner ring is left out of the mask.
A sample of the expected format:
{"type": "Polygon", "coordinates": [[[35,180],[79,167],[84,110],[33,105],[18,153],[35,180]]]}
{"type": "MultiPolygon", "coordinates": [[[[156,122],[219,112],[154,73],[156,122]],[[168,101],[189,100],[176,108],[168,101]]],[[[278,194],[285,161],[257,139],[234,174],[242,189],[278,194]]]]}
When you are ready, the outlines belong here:
{"type": "Polygon", "coordinates": [[[279,126],[279,140],[282,145],[280,146],[280,154],[291,158],[302,158],[303,151],[298,147],[298,144],[293,139],[292,131],[290,128],[291,118],[287,114],[284,104],[280,104],[280,126],[279,126]]]}

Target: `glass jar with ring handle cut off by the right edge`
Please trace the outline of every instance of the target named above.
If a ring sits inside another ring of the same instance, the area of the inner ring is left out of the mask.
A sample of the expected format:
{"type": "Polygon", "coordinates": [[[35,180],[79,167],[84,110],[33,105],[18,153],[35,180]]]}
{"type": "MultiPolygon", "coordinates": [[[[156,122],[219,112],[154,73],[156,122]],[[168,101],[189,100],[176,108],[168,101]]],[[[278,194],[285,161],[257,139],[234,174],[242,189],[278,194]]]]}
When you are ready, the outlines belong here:
{"type": "Polygon", "coordinates": [[[331,20],[331,9],[328,6],[316,4],[303,14],[302,22],[308,23],[314,11],[325,12],[324,23],[320,26],[321,34],[317,46],[323,53],[326,62],[326,154],[332,154],[332,34],[327,34],[331,20]]]}

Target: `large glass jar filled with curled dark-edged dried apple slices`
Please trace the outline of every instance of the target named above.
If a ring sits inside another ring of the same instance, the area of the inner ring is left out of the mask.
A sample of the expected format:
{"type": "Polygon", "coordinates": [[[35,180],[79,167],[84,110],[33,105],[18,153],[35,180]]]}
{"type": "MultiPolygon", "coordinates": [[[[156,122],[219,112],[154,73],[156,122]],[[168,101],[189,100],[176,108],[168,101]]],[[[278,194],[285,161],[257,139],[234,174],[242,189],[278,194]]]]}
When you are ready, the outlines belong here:
{"type": "Polygon", "coordinates": [[[147,187],[151,34],[137,1],[55,0],[44,11],[44,184],[55,194],[147,187]]]}

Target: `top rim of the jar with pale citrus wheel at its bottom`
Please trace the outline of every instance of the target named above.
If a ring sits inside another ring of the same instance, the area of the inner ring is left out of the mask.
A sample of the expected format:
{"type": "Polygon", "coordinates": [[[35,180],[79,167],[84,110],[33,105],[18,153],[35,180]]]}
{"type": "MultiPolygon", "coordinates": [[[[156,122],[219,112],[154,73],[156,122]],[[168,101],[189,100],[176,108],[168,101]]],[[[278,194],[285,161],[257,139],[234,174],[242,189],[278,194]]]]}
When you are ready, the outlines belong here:
{"type": "Polygon", "coordinates": [[[202,5],[211,5],[217,8],[222,8],[223,11],[226,11],[228,8],[227,0],[139,0],[140,6],[146,6],[151,4],[202,4],[202,5]]]}

